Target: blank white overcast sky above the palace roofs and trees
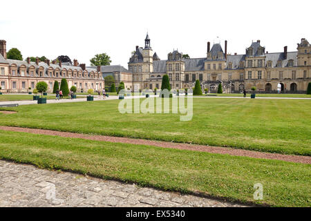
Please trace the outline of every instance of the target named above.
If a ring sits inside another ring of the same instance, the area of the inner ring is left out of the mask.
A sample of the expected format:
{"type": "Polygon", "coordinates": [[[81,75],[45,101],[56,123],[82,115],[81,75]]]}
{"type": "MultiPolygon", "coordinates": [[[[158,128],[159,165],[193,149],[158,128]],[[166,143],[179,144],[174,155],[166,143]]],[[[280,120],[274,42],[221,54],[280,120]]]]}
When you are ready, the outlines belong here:
{"type": "Polygon", "coordinates": [[[112,64],[127,68],[131,51],[144,46],[148,30],[160,59],[178,48],[205,57],[207,41],[228,41],[228,52],[245,53],[261,39],[269,52],[296,50],[302,37],[311,41],[311,1],[1,1],[0,39],[18,48],[23,59],[68,55],[90,64],[106,52],[112,64]]]}

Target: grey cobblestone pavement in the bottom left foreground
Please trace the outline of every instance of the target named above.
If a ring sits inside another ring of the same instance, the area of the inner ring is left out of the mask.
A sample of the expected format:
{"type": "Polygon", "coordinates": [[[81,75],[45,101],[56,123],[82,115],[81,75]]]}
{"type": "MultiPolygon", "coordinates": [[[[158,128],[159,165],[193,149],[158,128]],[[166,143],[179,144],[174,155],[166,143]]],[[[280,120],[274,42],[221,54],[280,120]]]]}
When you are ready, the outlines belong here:
{"type": "Polygon", "coordinates": [[[0,206],[244,206],[0,160],[0,206]]]}

